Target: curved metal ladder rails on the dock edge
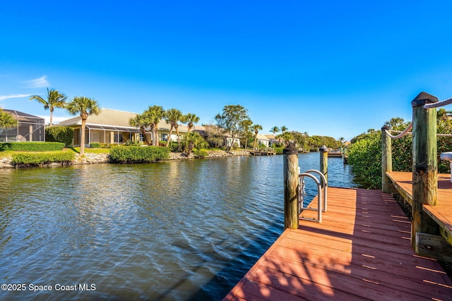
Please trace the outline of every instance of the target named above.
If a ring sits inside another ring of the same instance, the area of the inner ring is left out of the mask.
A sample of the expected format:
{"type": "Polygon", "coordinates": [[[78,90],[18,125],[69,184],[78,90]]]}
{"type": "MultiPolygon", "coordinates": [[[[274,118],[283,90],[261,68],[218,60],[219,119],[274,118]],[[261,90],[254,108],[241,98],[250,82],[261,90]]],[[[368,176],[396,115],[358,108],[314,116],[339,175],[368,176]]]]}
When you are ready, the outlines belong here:
{"type": "Polygon", "coordinates": [[[328,194],[328,183],[326,182],[325,176],[320,171],[316,171],[315,169],[309,169],[309,171],[305,171],[304,173],[300,173],[299,177],[299,214],[302,213],[303,210],[312,210],[317,211],[317,219],[308,218],[308,217],[299,217],[299,219],[303,219],[305,221],[316,221],[318,223],[322,222],[322,212],[325,212],[327,209],[327,194],[328,194]],[[316,173],[320,176],[320,181],[314,176],[312,173],[316,173]],[[303,206],[303,196],[306,196],[306,192],[304,192],[304,178],[308,177],[314,180],[317,185],[317,199],[319,206],[317,208],[307,208],[303,206]],[[322,193],[323,190],[323,193],[322,193]],[[322,206],[323,199],[323,206],[322,206]]]}

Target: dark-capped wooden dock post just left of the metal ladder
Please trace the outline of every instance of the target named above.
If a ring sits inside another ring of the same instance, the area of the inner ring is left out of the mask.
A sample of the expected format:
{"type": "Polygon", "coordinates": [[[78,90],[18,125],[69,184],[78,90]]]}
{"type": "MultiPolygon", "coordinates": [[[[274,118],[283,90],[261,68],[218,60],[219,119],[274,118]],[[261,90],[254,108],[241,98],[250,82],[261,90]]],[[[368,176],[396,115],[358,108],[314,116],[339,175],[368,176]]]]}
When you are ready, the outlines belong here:
{"type": "Polygon", "coordinates": [[[283,149],[284,171],[284,228],[297,229],[298,197],[299,197],[299,167],[298,149],[292,142],[283,149]]]}

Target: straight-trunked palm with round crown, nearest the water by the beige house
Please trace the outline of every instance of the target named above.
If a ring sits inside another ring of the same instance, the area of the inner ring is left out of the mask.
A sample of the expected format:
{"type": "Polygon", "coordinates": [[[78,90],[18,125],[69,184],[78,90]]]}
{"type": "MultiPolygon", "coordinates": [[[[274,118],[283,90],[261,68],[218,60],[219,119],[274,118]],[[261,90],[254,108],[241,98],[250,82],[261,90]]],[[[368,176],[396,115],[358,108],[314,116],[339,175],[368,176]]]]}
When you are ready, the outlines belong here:
{"type": "Polygon", "coordinates": [[[82,128],[81,128],[81,141],[80,141],[80,155],[85,154],[85,128],[86,119],[91,114],[99,115],[100,108],[94,99],[84,96],[74,97],[69,104],[66,105],[66,109],[72,115],[77,115],[80,113],[82,118],[82,128]]]}

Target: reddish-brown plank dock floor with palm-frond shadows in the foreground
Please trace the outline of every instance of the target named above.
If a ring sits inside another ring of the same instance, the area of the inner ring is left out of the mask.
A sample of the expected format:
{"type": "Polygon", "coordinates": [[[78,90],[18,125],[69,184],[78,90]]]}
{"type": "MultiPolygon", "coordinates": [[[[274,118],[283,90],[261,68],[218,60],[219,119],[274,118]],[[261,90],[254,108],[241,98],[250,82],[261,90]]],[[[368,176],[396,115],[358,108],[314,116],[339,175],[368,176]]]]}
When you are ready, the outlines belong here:
{"type": "Polygon", "coordinates": [[[410,227],[391,195],[329,188],[323,223],[285,230],[224,300],[452,300],[439,263],[412,250],[410,227]]]}

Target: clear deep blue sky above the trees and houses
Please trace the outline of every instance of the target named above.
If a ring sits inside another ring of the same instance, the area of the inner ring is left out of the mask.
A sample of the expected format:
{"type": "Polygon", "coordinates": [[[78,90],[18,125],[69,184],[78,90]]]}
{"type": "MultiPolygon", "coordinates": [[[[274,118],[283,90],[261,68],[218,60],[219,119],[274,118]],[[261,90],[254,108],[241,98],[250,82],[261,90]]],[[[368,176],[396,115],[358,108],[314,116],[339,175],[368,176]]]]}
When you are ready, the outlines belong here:
{"type": "MultiPolygon", "coordinates": [[[[3,1],[0,106],[55,88],[101,107],[350,139],[452,96],[452,1],[3,1]]],[[[54,119],[69,118],[62,109],[54,119]]]]}

